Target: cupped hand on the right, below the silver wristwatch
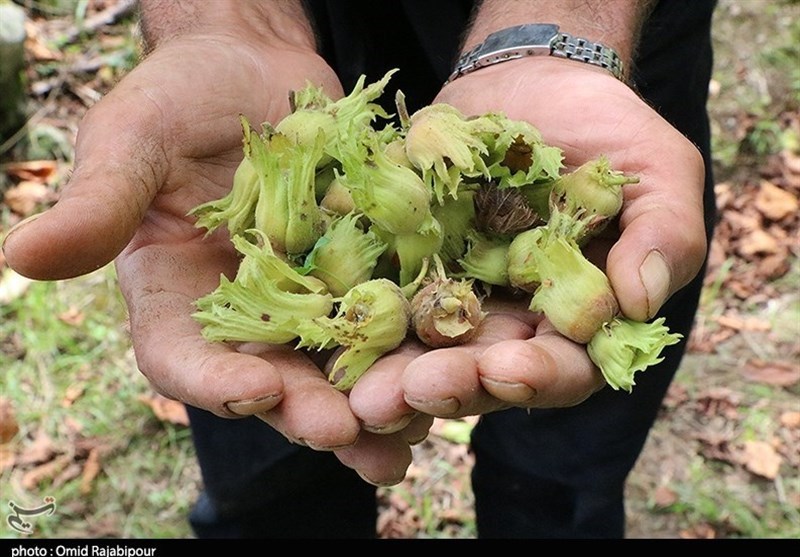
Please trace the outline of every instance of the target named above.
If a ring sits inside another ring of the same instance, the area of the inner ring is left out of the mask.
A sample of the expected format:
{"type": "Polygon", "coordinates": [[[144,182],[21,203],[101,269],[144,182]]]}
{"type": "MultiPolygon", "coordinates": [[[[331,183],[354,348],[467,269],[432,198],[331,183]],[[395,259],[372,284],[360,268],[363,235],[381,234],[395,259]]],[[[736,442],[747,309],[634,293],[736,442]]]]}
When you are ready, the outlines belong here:
{"type": "MultiPolygon", "coordinates": [[[[546,143],[564,150],[568,167],[606,155],[615,169],[640,177],[625,188],[619,229],[609,228],[587,250],[604,267],[626,316],[653,317],[700,270],[706,250],[702,158],[605,70],[526,58],[463,76],[436,100],[467,115],[503,111],[529,121],[546,143]]],[[[486,307],[490,315],[470,344],[422,353],[402,374],[370,371],[351,393],[354,413],[379,424],[412,411],[458,417],[509,406],[568,406],[604,386],[585,347],[531,314],[527,299],[502,306],[486,307]]]]}

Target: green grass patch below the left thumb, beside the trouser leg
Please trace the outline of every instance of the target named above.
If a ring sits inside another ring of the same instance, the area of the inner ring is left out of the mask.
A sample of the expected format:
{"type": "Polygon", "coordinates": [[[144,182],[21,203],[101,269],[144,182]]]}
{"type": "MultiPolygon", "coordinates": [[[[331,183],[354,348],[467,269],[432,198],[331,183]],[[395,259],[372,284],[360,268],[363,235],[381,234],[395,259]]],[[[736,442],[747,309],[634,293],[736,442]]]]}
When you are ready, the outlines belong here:
{"type": "MultiPolygon", "coordinates": [[[[55,498],[54,515],[32,520],[34,537],[191,535],[186,517],[199,479],[189,431],[157,420],[140,400],[151,390],[136,369],[125,319],[111,266],[72,281],[34,282],[0,309],[2,396],[20,426],[9,446],[30,454],[44,436],[56,453],[49,462],[68,462],[27,487],[36,464],[0,477],[4,506],[55,498]],[[83,319],[70,321],[76,311],[83,319]],[[85,492],[87,446],[101,451],[101,472],[85,492]]],[[[18,535],[5,522],[2,528],[18,535]]]]}

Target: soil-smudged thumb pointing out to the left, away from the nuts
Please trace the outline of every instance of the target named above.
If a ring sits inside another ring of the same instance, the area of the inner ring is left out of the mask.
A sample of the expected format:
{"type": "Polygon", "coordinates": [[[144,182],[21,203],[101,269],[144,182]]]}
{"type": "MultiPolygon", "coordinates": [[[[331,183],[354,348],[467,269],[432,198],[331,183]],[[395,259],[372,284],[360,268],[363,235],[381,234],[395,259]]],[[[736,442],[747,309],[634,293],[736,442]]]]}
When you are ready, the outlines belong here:
{"type": "Polygon", "coordinates": [[[8,265],[38,280],[92,272],[127,245],[166,173],[157,105],[118,87],[81,122],[75,169],[59,201],[3,242],[8,265]]]}

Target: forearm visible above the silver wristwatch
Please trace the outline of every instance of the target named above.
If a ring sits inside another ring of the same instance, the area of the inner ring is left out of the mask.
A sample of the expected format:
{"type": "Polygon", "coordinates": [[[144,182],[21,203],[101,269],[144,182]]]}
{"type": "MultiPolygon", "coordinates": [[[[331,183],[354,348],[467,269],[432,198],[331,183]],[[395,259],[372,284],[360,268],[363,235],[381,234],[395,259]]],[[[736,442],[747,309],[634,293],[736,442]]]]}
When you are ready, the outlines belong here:
{"type": "Polygon", "coordinates": [[[466,52],[490,33],[523,23],[555,23],[562,31],[613,48],[630,65],[654,0],[484,0],[467,33],[466,52]]]}

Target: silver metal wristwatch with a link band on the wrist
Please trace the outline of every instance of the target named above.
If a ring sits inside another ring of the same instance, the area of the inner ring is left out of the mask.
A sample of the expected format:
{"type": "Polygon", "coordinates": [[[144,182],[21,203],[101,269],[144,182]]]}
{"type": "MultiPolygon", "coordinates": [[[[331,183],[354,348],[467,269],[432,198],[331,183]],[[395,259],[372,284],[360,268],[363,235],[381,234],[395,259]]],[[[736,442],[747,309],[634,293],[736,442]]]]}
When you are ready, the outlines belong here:
{"type": "Polygon", "coordinates": [[[559,31],[552,23],[527,23],[495,31],[458,59],[447,82],[484,66],[525,56],[557,56],[605,68],[624,81],[622,60],[609,48],[559,31]]]}

